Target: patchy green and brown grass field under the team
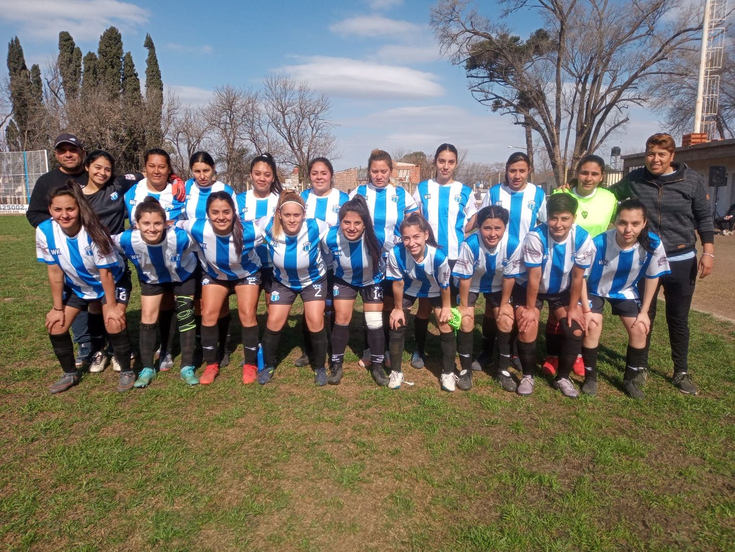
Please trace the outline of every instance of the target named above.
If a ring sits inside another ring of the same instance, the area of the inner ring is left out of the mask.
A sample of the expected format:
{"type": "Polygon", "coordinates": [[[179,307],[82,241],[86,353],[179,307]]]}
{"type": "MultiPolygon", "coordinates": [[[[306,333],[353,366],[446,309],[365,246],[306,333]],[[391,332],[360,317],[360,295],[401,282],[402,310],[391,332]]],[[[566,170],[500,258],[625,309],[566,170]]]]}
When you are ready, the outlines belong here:
{"type": "MultiPolygon", "coordinates": [[[[670,383],[660,320],[647,397],[623,395],[609,315],[598,397],[578,401],[542,379],[520,398],[485,374],[442,393],[433,339],[429,369],[406,363],[413,387],[377,388],[350,351],[343,384],[315,388],[293,367],[295,316],[265,387],[239,383],[240,348],[208,387],[182,384],[177,362],[145,390],[115,393],[108,368],[52,396],[49,285],[25,218],[0,218],[0,259],[9,550],[733,548],[735,326],[709,315],[691,318],[698,397],[670,383]]],[[[135,343],[138,318],[134,292],[135,343]]]]}

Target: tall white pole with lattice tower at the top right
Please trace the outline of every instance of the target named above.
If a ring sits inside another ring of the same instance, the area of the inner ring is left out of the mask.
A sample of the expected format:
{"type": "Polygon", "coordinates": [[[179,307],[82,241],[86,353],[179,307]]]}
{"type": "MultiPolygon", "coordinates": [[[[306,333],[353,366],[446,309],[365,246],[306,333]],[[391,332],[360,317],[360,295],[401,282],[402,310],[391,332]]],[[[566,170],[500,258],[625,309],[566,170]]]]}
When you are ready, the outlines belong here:
{"type": "Polygon", "coordinates": [[[704,2],[694,132],[705,133],[709,139],[714,136],[717,129],[717,99],[720,97],[720,70],[723,67],[727,11],[728,0],[704,2]]]}

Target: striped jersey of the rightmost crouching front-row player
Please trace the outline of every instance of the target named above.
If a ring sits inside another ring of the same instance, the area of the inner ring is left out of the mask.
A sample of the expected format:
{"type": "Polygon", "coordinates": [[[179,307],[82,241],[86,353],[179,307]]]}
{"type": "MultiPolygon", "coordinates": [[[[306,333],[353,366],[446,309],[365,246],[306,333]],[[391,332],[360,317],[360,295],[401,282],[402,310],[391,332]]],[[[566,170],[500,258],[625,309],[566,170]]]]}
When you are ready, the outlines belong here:
{"type": "MultiPolygon", "coordinates": [[[[644,231],[645,232],[645,231],[644,231]]],[[[616,229],[598,234],[592,240],[592,267],[587,277],[587,292],[612,299],[637,299],[637,282],[643,276],[659,278],[671,272],[661,238],[648,232],[653,254],[636,243],[621,249],[616,229]]]]}

